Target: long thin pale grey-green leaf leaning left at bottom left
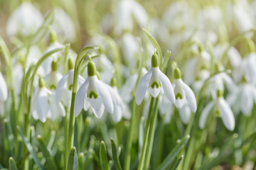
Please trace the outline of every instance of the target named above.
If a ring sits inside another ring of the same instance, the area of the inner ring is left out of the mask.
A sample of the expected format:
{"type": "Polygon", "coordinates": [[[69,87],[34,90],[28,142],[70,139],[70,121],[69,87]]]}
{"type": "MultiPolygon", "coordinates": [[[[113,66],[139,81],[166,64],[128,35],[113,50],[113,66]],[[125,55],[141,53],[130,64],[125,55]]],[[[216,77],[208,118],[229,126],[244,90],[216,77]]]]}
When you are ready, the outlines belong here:
{"type": "Polygon", "coordinates": [[[23,132],[22,132],[21,128],[17,127],[17,129],[18,129],[19,134],[22,137],[23,143],[26,145],[26,148],[28,149],[28,152],[31,154],[32,159],[34,160],[34,162],[38,166],[38,169],[43,169],[44,170],[45,168],[43,167],[40,160],[38,159],[37,154],[33,149],[33,146],[31,145],[30,142],[28,142],[28,139],[23,135],[23,132]]]}

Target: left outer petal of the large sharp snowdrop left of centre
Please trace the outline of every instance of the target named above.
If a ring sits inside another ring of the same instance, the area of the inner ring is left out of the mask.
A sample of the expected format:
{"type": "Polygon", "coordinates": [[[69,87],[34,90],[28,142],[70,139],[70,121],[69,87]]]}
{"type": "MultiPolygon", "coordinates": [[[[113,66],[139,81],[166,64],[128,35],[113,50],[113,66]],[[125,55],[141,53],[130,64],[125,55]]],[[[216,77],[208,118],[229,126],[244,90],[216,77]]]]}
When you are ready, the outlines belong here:
{"type": "Polygon", "coordinates": [[[89,79],[87,79],[85,83],[82,84],[82,86],[80,86],[75,96],[75,108],[74,108],[75,117],[77,117],[79,113],[82,111],[82,107],[84,106],[84,103],[85,103],[85,94],[86,94],[88,85],[89,85],[89,79]]]}

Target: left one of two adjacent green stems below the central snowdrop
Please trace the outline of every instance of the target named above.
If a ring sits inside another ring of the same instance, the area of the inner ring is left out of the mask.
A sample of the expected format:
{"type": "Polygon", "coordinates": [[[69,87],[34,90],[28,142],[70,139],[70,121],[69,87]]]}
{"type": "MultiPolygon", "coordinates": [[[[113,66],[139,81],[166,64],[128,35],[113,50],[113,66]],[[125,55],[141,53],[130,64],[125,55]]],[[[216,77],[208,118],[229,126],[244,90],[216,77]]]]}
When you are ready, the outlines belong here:
{"type": "Polygon", "coordinates": [[[148,145],[148,136],[149,136],[149,124],[151,120],[151,113],[152,113],[152,108],[153,108],[153,103],[154,103],[154,97],[151,97],[150,99],[150,104],[149,104],[149,114],[146,120],[146,129],[144,132],[144,140],[143,140],[143,145],[142,145],[142,154],[139,159],[139,170],[144,169],[144,161],[145,161],[145,156],[146,156],[146,146],[148,145]]]}

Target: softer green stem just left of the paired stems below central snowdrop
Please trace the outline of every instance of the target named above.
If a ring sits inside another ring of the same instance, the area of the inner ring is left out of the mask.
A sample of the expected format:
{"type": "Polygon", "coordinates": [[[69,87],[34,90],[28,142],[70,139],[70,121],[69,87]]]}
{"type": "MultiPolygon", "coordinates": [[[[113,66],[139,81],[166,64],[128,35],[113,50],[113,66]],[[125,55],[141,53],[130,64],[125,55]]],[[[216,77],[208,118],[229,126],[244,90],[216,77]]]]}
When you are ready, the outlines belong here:
{"type": "Polygon", "coordinates": [[[135,123],[136,123],[136,119],[135,119],[136,118],[136,115],[135,115],[136,110],[137,110],[137,105],[136,105],[135,97],[134,97],[133,101],[132,101],[132,118],[131,118],[131,124],[129,126],[129,135],[128,135],[128,142],[127,142],[127,147],[126,147],[124,170],[130,169],[132,140],[134,137],[134,129],[135,129],[135,123]]]}

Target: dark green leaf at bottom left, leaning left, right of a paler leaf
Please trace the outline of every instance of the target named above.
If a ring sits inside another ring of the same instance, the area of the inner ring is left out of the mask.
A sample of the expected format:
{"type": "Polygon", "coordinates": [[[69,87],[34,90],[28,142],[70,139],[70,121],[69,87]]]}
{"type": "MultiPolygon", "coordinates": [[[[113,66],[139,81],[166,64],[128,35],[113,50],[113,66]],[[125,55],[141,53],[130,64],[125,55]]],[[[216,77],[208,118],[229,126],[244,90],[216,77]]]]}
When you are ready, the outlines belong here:
{"type": "Polygon", "coordinates": [[[39,146],[41,152],[43,152],[43,156],[46,158],[47,168],[48,169],[58,169],[53,157],[50,155],[50,151],[47,149],[45,143],[43,142],[41,135],[38,135],[37,138],[38,138],[38,146],[39,146]]]}

